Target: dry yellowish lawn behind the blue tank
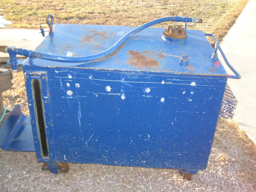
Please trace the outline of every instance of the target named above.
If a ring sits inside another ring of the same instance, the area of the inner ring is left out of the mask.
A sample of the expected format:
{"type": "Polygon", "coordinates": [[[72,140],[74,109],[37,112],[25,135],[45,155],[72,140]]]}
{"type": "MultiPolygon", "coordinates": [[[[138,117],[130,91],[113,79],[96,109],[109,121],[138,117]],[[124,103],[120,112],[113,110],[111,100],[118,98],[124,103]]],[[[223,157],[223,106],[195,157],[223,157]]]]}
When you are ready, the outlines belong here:
{"type": "MultiPolygon", "coordinates": [[[[12,21],[10,28],[47,27],[46,16],[53,14],[55,23],[138,26],[166,16],[188,16],[203,19],[203,24],[188,28],[215,34],[219,41],[227,34],[248,0],[144,0],[144,1],[78,1],[78,0],[2,0],[0,8],[12,21]]],[[[171,23],[170,23],[171,24],[171,23]]],[[[183,24],[182,24],[183,25],[183,24]]],[[[159,24],[157,27],[166,27],[159,24]]]]}

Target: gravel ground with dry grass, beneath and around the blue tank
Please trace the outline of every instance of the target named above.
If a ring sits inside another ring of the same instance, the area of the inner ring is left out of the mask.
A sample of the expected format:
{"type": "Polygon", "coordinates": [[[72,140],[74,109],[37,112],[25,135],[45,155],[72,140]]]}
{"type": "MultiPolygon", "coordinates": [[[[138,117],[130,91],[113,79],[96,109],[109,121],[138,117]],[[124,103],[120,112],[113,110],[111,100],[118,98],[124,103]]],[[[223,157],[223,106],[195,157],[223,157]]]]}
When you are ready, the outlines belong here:
{"type": "MultiPolygon", "coordinates": [[[[29,114],[21,69],[4,104],[29,114]]],[[[256,191],[256,147],[232,121],[219,119],[206,170],[183,180],[178,170],[69,164],[67,174],[41,171],[35,153],[0,150],[0,191],[256,191]]]]}

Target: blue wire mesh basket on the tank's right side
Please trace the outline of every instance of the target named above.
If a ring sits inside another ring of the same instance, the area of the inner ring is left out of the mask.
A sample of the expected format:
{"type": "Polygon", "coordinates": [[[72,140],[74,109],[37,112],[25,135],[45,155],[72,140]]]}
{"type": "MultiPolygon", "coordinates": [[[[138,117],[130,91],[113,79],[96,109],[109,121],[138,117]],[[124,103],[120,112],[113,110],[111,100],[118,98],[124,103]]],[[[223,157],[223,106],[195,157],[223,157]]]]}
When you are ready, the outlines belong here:
{"type": "Polygon", "coordinates": [[[237,106],[237,99],[233,92],[230,90],[228,84],[226,84],[224,96],[222,99],[219,118],[232,119],[234,115],[234,109],[237,106]]]}

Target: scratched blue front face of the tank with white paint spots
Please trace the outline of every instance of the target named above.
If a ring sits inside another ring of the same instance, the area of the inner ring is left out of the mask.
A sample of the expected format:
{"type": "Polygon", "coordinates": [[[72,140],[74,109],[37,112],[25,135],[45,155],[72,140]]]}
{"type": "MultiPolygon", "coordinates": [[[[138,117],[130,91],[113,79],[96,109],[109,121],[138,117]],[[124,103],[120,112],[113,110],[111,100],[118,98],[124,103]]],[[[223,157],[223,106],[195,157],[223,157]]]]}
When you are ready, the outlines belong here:
{"type": "Polygon", "coordinates": [[[32,124],[38,161],[206,168],[227,77],[24,66],[32,121],[35,71],[51,154],[32,124]]]}

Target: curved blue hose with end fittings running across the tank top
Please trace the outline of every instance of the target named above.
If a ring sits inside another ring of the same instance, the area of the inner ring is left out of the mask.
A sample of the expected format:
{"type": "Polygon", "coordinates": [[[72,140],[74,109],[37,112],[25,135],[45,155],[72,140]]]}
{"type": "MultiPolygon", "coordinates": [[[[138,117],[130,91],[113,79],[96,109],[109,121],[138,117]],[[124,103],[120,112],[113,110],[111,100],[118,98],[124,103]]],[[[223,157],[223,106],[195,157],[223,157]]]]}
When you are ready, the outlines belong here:
{"type": "MultiPolygon", "coordinates": [[[[50,17],[50,16],[48,16],[50,17]]],[[[47,18],[48,18],[47,17],[47,18]]],[[[83,57],[66,57],[66,56],[60,56],[60,55],[53,55],[48,53],[41,53],[37,51],[32,50],[26,50],[26,49],[9,49],[6,48],[7,52],[10,55],[10,62],[12,63],[12,69],[17,69],[17,59],[16,55],[23,55],[30,58],[30,61],[32,61],[33,58],[40,58],[40,59],[46,59],[51,61],[59,61],[59,62],[68,62],[68,63],[79,63],[79,62],[92,62],[95,60],[102,59],[104,57],[109,56],[113,52],[115,52],[127,39],[135,35],[136,33],[142,31],[143,29],[146,29],[152,25],[156,25],[163,22],[168,21],[174,21],[174,22],[186,22],[186,23],[202,23],[202,19],[198,18],[189,18],[189,17],[164,17],[160,19],[153,20],[151,22],[148,22],[144,25],[141,25],[139,27],[136,27],[135,29],[131,30],[127,34],[125,34],[123,37],[121,37],[112,47],[108,48],[107,50],[94,54],[94,55],[88,55],[83,57]]],[[[4,46],[3,46],[4,47],[4,46]]],[[[3,50],[3,49],[2,49],[3,50]]],[[[1,51],[1,49],[0,49],[1,51]]]]}

